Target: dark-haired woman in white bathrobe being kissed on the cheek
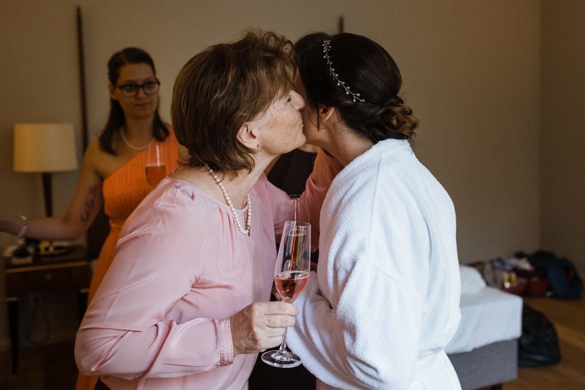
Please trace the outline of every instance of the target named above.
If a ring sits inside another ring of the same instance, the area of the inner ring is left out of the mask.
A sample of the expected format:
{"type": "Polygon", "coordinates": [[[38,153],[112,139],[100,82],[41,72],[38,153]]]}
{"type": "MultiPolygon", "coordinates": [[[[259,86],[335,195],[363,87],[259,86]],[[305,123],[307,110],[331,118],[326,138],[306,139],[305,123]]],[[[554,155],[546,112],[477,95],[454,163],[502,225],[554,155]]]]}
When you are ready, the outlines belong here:
{"type": "Polygon", "coordinates": [[[344,165],[321,209],[319,265],[287,342],[318,389],[460,389],[455,210],[410,147],[418,120],[377,43],[337,34],[299,53],[307,143],[344,165]]]}

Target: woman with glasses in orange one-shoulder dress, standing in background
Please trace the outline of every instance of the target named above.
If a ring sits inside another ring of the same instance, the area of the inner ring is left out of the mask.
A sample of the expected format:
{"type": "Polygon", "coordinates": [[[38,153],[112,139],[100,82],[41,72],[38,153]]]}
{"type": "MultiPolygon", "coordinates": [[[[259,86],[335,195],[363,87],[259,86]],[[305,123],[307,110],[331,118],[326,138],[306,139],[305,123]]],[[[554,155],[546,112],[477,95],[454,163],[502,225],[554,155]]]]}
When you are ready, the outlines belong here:
{"type": "MultiPolygon", "coordinates": [[[[158,112],[160,82],[149,54],[135,47],[113,54],[108,78],[108,123],[85,151],[67,214],[32,220],[0,217],[1,232],[32,239],[77,240],[87,232],[103,202],[110,232],[98,257],[88,303],[113,260],[123,223],[156,186],[146,178],[149,147],[162,146],[165,174],[176,170],[179,158],[173,129],[164,124],[158,112]]],[[[80,375],[77,389],[93,389],[97,379],[80,375]]]]}

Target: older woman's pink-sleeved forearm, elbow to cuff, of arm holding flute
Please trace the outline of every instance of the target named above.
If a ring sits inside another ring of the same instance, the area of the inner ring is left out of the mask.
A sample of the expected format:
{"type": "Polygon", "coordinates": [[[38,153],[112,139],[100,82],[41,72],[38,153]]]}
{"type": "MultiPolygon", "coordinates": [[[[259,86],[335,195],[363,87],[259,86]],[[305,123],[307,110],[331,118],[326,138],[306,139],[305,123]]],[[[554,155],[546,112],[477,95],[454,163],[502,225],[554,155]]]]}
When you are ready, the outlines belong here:
{"type": "Polygon", "coordinates": [[[181,377],[233,363],[229,320],[161,321],[144,330],[105,329],[84,319],[75,360],[85,375],[125,379],[181,377]]]}

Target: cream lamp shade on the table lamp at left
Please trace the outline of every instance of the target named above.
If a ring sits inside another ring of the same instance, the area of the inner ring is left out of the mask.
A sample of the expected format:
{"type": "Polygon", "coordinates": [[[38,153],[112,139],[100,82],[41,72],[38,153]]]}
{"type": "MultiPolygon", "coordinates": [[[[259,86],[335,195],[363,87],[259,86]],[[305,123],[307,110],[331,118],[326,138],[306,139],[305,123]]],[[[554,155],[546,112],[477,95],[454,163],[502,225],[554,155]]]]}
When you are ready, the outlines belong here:
{"type": "Polygon", "coordinates": [[[77,169],[73,125],[19,123],[14,125],[14,170],[60,172],[77,169]]]}

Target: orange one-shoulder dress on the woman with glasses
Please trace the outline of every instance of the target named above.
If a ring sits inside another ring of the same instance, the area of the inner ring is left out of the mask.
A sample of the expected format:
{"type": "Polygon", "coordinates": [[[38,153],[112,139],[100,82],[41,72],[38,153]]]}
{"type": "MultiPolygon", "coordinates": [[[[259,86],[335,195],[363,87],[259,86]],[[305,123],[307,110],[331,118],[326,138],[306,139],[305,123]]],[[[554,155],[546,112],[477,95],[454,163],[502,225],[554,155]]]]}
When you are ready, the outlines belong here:
{"type": "MultiPolygon", "coordinates": [[[[156,141],[163,145],[164,165],[166,174],[172,173],[178,167],[178,143],[173,132],[169,127],[168,137],[164,141],[156,141]]],[[[99,284],[112,264],[116,243],[122,225],[142,202],[142,199],[149,194],[152,187],[146,180],[146,150],[142,151],[132,160],[113,172],[105,178],[102,183],[102,195],[104,196],[104,212],[109,218],[110,232],[106,238],[97,264],[95,265],[94,275],[91,279],[90,292],[88,294],[87,304],[89,305],[94,298],[99,284]]],[[[77,377],[76,390],[93,390],[98,377],[86,377],[79,374],[77,377]]]]}

